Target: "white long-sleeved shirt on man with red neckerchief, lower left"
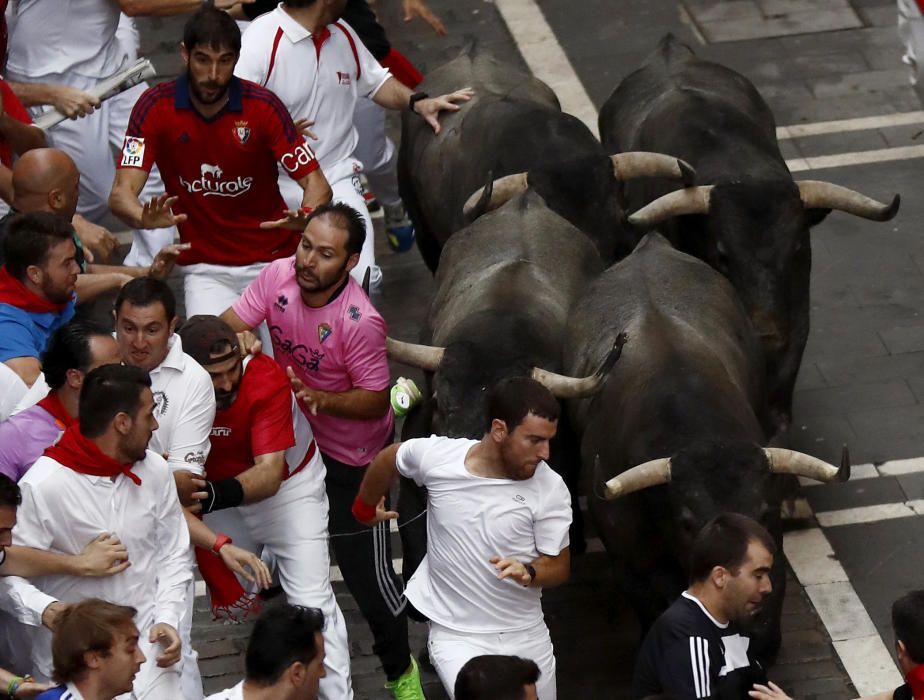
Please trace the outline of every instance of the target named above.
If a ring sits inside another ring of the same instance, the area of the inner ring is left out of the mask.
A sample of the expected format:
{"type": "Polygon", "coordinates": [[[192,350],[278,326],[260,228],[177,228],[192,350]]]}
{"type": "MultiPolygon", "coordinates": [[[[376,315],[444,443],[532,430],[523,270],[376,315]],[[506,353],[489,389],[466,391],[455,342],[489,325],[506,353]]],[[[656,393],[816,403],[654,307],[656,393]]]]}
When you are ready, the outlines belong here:
{"type": "MultiPolygon", "coordinates": [[[[27,624],[41,625],[42,611],[50,602],[97,597],[136,608],[135,624],[142,636],[158,622],[178,629],[192,579],[189,530],[164,459],[148,450],[132,471],[141,479],[140,486],[121,474],[114,480],[79,474],[49,457],[35,463],[19,482],[23,501],[13,541],[77,554],[90,540],[109,532],[128,549],[131,566],[107,578],[41,576],[30,584],[8,577],[2,581],[8,595],[0,595],[8,612],[27,624]]],[[[51,633],[45,628],[35,635],[33,662],[40,673],[50,675],[51,633]]]]}

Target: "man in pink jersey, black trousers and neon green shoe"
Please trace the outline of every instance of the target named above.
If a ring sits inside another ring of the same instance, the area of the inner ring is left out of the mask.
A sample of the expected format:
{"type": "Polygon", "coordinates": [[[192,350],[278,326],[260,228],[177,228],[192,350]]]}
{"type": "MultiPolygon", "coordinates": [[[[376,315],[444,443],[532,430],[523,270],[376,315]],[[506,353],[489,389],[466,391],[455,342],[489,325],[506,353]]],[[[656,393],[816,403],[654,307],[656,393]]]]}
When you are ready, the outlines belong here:
{"type": "Polygon", "coordinates": [[[343,579],[372,629],[388,687],[402,700],[422,700],[388,529],[358,526],[350,511],[366,467],[394,432],[385,322],[350,277],[365,235],[355,209],[319,207],[295,256],[268,265],[221,318],[237,332],[269,326],[276,361],[293,378],[327,466],[331,541],[343,579]]]}

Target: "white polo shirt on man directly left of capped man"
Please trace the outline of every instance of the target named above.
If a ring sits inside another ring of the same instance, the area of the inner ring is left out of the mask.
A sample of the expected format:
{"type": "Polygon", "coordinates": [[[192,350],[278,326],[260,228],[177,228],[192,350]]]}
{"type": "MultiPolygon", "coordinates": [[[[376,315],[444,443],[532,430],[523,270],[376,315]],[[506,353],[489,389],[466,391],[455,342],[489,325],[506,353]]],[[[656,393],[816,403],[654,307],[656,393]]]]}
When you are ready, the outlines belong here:
{"type": "Polygon", "coordinates": [[[169,348],[164,361],[151,370],[159,427],[148,448],[166,454],[172,471],[201,474],[215,420],[215,389],[209,373],[183,352],[183,341],[176,333],[170,336],[169,348]]]}

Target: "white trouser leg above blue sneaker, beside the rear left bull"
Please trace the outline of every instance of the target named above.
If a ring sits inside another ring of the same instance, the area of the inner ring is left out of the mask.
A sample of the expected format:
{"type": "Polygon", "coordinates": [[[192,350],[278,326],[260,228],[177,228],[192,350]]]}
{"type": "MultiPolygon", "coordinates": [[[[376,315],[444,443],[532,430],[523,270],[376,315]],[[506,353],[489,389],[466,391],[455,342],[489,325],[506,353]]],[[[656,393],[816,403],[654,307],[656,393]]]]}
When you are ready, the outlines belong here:
{"type": "Polygon", "coordinates": [[[385,109],[366,97],[356,100],[353,125],[359,142],[353,157],[363,164],[363,173],[375,198],[386,207],[401,204],[398,194],[398,150],[385,133],[385,109]]]}

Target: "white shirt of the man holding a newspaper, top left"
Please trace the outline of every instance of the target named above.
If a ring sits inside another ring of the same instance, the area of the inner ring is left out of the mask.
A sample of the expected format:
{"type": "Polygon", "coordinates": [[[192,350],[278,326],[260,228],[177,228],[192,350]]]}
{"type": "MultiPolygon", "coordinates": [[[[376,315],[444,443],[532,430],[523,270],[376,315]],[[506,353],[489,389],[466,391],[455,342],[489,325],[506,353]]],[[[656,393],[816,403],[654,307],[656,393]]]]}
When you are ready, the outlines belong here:
{"type": "Polygon", "coordinates": [[[6,70],[14,79],[105,78],[123,68],[115,0],[18,0],[6,70]]]}

